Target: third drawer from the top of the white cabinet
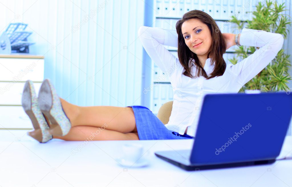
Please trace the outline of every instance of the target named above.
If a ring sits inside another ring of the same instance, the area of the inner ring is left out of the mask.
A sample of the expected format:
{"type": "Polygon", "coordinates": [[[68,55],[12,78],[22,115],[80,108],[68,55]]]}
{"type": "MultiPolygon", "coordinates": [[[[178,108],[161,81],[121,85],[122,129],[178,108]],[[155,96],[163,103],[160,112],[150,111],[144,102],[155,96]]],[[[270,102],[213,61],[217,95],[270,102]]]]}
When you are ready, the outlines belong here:
{"type": "Polygon", "coordinates": [[[22,106],[0,106],[0,128],[33,128],[22,106]]]}

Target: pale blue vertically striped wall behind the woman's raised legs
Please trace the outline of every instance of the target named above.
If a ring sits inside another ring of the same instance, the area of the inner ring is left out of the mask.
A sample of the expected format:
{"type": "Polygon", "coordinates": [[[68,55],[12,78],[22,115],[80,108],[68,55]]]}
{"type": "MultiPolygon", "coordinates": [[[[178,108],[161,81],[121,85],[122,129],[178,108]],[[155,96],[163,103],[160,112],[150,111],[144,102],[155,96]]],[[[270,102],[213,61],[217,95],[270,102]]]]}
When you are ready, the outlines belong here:
{"type": "Polygon", "coordinates": [[[45,78],[81,105],[141,103],[144,2],[1,0],[0,29],[28,24],[31,54],[45,56],[45,78]]]}

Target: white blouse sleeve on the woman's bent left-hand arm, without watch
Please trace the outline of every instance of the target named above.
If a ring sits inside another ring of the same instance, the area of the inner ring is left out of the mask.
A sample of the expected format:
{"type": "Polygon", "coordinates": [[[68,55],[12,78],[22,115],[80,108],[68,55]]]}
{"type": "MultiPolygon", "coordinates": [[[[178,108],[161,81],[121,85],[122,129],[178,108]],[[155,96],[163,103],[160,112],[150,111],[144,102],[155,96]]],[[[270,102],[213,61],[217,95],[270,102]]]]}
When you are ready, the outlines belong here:
{"type": "MultiPolygon", "coordinates": [[[[157,66],[167,75],[171,75],[178,58],[165,47],[178,47],[178,35],[175,30],[141,26],[138,31],[144,49],[157,66]]],[[[178,61],[179,62],[179,61],[178,61]]]]}

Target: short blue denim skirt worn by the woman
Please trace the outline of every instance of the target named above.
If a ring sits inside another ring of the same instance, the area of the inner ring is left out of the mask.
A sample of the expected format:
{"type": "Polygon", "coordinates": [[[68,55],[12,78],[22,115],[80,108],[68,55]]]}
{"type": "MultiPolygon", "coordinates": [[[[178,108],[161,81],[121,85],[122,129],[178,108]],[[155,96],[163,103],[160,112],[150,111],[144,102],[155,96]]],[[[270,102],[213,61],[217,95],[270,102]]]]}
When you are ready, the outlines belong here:
{"type": "Polygon", "coordinates": [[[180,135],[168,130],[164,124],[145,106],[132,107],[140,140],[191,139],[192,136],[180,135]]]}

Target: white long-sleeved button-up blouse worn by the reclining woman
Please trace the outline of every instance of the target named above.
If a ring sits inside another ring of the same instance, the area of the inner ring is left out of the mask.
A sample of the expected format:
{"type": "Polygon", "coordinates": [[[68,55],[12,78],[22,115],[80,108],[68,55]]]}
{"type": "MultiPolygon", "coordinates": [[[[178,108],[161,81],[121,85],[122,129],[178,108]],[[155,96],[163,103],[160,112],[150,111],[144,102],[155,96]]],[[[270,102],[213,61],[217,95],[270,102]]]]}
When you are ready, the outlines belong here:
{"type": "MultiPolygon", "coordinates": [[[[166,30],[141,26],[139,38],[150,58],[168,75],[173,88],[173,107],[166,128],[187,135],[195,136],[198,125],[202,99],[206,94],[237,93],[245,83],[256,76],[275,58],[282,48],[284,38],[281,34],[253,29],[243,29],[240,44],[260,47],[253,54],[236,65],[227,64],[222,76],[206,79],[203,76],[190,78],[183,75],[184,68],[178,58],[171,54],[164,45],[178,47],[178,35],[175,30],[166,30]]],[[[204,70],[209,76],[214,65],[211,58],[206,60],[204,70]]],[[[196,65],[190,61],[192,75],[196,73],[196,65]]],[[[217,110],[217,108],[214,108],[217,110]]],[[[210,115],[214,111],[210,111],[210,115]]]]}

